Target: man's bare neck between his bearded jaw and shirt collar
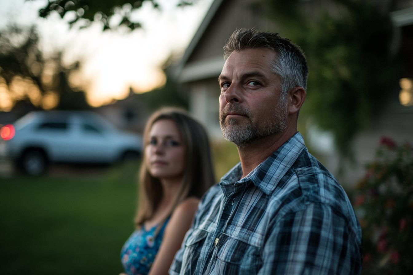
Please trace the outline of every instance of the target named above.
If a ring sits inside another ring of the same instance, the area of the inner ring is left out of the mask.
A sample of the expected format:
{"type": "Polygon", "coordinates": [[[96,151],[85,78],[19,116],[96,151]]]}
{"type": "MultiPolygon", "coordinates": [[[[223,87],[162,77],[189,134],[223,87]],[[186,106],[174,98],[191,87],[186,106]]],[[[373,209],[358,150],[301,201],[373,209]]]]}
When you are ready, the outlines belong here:
{"type": "Polygon", "coordinates": [[[244,148],[238,148],[242,166],[242,178],[247,176],[255,167],[278,150],[278,148],[294,136],[296,132],[296,129],[287,128],[284,132],[266,136],[244,148]]]}

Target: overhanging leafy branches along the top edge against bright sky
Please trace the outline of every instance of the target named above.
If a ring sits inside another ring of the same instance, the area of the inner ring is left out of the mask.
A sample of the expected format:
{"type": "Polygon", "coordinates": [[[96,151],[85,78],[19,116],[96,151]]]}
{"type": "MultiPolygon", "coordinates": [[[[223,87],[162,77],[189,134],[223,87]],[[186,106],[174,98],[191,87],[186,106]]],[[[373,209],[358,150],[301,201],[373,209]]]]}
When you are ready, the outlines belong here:
{"type": "MultiPolygon", "coordinates": [[[[126,26],[130,30],[141,28],[139,21],[131,19],[134,10],[140,9],[143,2],[151,2],[155,9],[160,5],[156,0],[53,0],[48,1],[47,5],[39,10],[40,17],[47,17],[52,12],[57,12],[63,18],[67,12],[73,12],[75,17],[69,22],[73,26],[78,21],[83,21],[82,27],[88,27],[93,21],[101,22],[103,30],[110,29],[109,21],[115,14],[122,16],[118,26],[126,26]]],[[[192,5],[194,0],[179,0],[177,6],[192,5]]]]}

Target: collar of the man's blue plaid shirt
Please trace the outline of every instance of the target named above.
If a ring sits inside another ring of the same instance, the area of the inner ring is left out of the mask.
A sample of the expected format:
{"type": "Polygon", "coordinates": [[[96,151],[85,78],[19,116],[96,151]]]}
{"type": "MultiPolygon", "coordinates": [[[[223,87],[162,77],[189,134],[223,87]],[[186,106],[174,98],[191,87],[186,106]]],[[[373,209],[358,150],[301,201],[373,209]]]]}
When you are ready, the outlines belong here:
{"type": "Polygon", "coordinates": [[[242,167],[241,162],[239,162],[221,178],[219,184],[225,197],[228,197],[233,192],[236,184],[246,183],[247,181],[254,183],[255,186],[267,195],[271,194],[304,148],[304,138],[297,132],[243,179],[241,179],[242,167]]]}

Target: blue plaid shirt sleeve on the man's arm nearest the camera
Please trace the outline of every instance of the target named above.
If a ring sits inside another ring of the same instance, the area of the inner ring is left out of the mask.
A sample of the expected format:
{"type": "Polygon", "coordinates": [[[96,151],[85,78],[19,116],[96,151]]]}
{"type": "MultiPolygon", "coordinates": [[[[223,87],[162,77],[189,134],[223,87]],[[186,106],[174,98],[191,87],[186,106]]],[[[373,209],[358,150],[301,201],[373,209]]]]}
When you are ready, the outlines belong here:
{"type": "Polygon", "coordinates": [[[332,207],[307,204],[274,221],[263,247],[260,275],[360,274],[361,240],[332,207]]]}

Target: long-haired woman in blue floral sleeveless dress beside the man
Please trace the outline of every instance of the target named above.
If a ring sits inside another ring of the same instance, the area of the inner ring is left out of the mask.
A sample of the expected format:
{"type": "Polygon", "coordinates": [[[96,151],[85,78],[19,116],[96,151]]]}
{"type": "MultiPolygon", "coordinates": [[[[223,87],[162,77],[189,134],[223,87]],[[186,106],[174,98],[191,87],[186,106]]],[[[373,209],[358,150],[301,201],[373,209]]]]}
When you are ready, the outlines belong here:
{"type": "Polygon", "coordinates": [[[161,109],[145,127],[136,230],[121,250],[127,274],[167,274],[199,199],[214,183],[204,128],[183,110],[161,109]]]}

